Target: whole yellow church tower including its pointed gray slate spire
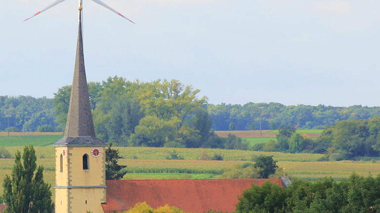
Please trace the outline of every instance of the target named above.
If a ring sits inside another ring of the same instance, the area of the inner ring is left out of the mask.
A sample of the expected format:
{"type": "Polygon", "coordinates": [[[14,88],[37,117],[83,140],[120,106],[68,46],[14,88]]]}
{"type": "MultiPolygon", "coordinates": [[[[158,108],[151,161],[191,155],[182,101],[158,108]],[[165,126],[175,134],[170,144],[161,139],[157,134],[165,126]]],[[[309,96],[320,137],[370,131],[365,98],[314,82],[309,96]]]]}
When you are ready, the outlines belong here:
{"type": "Polygon", "coordinates": [[[79,6],[77,52],[64,137],[55,142],[55,213],[102,213],[106,202],[105,145],[95,137],[79,6]]]}

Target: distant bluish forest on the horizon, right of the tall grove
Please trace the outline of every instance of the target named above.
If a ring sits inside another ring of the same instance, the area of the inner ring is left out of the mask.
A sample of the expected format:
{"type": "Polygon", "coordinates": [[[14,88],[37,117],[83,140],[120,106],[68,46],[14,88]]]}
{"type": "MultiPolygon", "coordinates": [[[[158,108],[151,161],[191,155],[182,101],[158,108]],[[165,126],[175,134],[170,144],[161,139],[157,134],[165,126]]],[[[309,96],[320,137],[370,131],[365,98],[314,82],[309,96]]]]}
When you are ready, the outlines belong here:
{"type": "Polygon", "coordinates": [[[207,105],[214,130],[275,130],[280,125],[298,129],[325,129],[341,120],[369,119],[380,115],[379,106],[285,106],[279,103],[207,105]]]}

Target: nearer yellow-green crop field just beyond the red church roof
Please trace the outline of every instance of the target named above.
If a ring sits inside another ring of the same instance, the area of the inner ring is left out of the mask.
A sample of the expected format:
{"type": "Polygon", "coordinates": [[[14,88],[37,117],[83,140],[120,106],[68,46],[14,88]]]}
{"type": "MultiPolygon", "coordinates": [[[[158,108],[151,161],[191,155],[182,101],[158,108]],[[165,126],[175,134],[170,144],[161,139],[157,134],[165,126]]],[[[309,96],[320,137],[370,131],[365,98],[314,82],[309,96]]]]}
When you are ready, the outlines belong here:
{"type": "MultiPolygon", "coordinates": [[[[54,158],[39,158],[37,161],[38,165],[45,167],[45,180],[52,186],[55,184],[54,162],[54,158]]],[[[223,170],[245,162],[248,161],[120,159],[120,164],[127,166],[124,179],[218,178],[223,170]]],[[[0,159],[0,186],[5,175],[11,173],[13,163],[14,159],[0,159]]],[[[291,178],[313,181],[324,177],[341,180],[353,172],[362,176],[380,173],[380,163],[280,161],[278,165],[285,168],[291,178]]]]}

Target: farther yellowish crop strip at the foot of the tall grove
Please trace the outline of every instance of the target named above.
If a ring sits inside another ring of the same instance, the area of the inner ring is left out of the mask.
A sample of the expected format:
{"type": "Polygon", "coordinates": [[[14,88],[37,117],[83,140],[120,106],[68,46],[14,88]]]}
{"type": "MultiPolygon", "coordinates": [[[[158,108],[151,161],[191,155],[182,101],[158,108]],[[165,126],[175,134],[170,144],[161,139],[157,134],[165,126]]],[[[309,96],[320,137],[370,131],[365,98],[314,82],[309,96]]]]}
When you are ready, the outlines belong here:
{"type": "MultiPolygon", "coordinates": [[[[52,146],[36,146],[37,157],[54,158],[54,147],[52,146]]],[[[263,152],[249,150],[234,150],[234,149],[211,149],[211,148],[167,148],[167,147],[116,147],[119,153],[126,159],[166,159],[169,152],[172,150],[183,156],[186,160],[198,160],[205,152],[209,156],[221,154],[224,160],[244,161],[252,159],[252,156],[258,155],[273,155],[277,161],[318,161],[323,154],[310,153],[283,153],[283,152],[263,152]]],[[[23,147],[10,146],[6,149],[14,156],[17,150],[22,152],[23,147]]]]}

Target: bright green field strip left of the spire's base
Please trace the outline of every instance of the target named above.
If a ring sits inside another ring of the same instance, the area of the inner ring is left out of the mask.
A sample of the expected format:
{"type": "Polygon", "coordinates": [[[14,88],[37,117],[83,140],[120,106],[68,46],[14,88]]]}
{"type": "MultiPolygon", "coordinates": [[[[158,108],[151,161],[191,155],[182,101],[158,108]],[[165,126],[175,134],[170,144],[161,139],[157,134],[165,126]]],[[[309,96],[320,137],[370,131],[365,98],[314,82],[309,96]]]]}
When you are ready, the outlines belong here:
{"type": "Polygon", "coordinates": [[[62,135],[0,136],[0,146],[46,146],[62,138],[62,135]]]}

